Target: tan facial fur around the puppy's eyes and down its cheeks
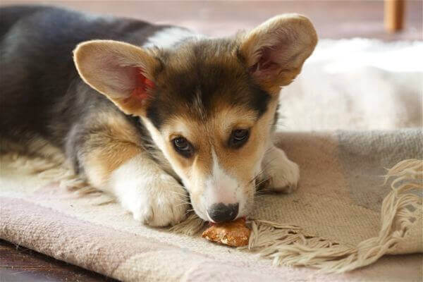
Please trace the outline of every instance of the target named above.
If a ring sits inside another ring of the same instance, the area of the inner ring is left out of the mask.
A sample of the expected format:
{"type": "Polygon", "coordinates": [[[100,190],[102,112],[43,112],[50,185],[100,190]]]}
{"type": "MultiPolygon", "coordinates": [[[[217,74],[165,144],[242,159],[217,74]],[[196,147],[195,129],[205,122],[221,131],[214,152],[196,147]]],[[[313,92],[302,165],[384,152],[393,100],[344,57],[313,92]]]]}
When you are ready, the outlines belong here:
{"type": "MultiPolygon", "coordinates": [[[[164,146],[164,153],[177,173],[185,179],[194,208],[200,206],[204,193],[204,180],[212,173],[212,149],[216,152],[223,170],[243,185],[248,202],[253,202],[254,182],[257,164],[271,144],[270,129],[276,111],[277,101],[269,104],[269,110],[255,121],[254,112],[243,108],[228,107],[216,109],[215,115],[207,121],[196,121],[184,114],[170,121],[161,133],[157,132],[164,146]],[[231,149],[227,140],[235,128],[251,128],[250,139],[240,149],[231,149]],[[176,136],[186,137],[197,149],[192,159],[185,159],[175,152],[171,140],[176,136]]],[[[251,208],[251,207],[249,207],[251,208]]],[[[247,211],[243,211],[247,214],[247,211]]]]}

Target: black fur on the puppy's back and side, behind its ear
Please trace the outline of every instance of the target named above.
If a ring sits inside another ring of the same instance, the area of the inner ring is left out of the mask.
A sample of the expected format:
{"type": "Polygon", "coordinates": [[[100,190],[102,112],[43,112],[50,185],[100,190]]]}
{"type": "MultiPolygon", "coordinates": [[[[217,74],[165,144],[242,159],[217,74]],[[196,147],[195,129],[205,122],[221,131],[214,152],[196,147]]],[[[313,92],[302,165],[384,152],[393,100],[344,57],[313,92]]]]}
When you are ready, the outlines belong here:
{"type": "Polygon", "coordinates": [[[96,114],[125,115],[80,79],[73,49],[91,39],[140,46],[168,26],[49,6],[6,6],[0,14],[1,138],[25,142],[41,136],[61,147],[78,168],[96,114]]]}

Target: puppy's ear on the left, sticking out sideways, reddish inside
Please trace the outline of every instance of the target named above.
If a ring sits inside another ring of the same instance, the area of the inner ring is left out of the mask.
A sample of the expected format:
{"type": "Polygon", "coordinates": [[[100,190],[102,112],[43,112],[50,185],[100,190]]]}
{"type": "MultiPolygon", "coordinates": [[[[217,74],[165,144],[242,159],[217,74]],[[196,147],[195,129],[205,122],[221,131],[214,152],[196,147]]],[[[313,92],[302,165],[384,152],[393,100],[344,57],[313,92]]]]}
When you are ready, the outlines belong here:
{"type": "Polygon", "coordinates": [[[154,90],[160,62],[151,51],[113,40],[78,44],[73,60],[82,80],[106,95],[125,114],[141,116],[154,90]]]}

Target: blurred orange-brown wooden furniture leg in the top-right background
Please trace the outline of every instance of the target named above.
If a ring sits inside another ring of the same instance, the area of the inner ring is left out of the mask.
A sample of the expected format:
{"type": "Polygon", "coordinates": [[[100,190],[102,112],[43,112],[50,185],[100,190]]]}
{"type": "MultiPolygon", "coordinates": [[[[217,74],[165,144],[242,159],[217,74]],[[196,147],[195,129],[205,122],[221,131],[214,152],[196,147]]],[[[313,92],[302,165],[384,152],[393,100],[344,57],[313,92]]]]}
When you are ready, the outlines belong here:
{"type": "Polygon", "coordinates": [[[398,32],[403,29],[404,0],[384,0],[384,21],[387,32],[398,32]]]}

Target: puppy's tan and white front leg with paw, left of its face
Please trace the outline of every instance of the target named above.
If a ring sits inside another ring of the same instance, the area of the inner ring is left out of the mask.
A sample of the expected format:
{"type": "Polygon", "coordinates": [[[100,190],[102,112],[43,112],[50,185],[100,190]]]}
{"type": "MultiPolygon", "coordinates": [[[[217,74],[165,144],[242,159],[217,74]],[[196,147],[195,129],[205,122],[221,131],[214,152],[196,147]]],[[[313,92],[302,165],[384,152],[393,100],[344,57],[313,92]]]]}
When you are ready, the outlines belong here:
{"type": "Polygon", "coordinates": [[[184,219],[185,189],[168,175],[136,140],[139,133],[118,118],[83,130],[78,163],[88,181],[110,192],[136,220],[167,226],[184,219]],[[137,135],[138,134],[138,135],[137,135]]]}

